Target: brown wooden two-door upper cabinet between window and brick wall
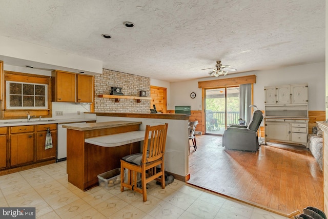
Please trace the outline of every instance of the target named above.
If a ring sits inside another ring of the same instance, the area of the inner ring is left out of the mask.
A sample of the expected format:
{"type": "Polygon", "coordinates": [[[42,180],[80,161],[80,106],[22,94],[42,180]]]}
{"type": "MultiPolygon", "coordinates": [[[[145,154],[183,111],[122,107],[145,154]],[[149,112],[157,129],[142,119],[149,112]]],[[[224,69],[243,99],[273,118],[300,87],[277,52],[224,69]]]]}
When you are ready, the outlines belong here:
{"type": "Polygon", "coordinates": [[[93,102],[93,76],[52,71],[53,102],[93,102]]]}

